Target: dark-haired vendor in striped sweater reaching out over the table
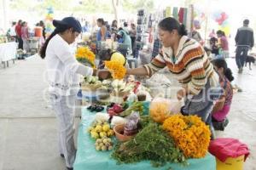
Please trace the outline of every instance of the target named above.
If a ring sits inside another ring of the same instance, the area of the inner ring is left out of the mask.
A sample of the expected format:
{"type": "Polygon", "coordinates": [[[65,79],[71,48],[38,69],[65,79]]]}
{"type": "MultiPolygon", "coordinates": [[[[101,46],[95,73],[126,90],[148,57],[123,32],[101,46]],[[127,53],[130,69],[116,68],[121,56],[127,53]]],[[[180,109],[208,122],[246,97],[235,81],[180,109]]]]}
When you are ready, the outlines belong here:
{"type": "Polygon", "coordinates": [[[209,115],[213,107],[210,89],[219,86],[217,72],[201,45],[187,37],[185,27],[177,20],[168,17],[161,20],[158,26],[163,45],[160,54],[143,67],[127,70],[127,74],[152,76],[167,66],[183,87],[177,92],[178,99],[186,98],[183,114],[196,114],[210,124],[209,115]]]}

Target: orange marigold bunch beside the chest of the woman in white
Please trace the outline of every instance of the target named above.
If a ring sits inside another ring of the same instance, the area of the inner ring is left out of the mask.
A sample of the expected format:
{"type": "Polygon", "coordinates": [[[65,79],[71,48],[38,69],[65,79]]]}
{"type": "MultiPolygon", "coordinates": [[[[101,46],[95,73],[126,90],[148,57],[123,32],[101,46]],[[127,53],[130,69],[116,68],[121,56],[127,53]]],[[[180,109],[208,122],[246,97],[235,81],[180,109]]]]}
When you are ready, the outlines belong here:
{"type": "Polygon", "coordinates": [[[93,68],[96,68],[95,54],[88,47],[79,47],[76,52],[76,59],[80,62],[89,63],[93,68]]]}

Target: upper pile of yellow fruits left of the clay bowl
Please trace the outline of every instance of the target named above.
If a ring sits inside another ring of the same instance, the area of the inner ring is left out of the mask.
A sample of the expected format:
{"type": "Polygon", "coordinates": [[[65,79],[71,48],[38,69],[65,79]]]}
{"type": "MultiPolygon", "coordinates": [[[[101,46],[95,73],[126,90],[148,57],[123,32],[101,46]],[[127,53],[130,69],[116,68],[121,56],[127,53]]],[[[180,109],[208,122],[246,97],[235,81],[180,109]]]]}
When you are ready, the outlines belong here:
{"type": "Polygon", "coordinates": [[[92,139],[103,139],[105,137],[112,137],[113,130],[110,128],[108,122],[96,121],[88,129],[92,139]]]}

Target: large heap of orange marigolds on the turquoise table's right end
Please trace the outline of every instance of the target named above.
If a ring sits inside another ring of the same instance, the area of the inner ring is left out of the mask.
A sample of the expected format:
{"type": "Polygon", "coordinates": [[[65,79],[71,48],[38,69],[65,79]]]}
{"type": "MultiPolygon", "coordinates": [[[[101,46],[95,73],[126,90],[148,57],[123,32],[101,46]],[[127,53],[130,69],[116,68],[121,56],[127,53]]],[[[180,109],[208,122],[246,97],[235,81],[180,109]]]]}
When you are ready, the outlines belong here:
{"type": "Polygon", "coordinates": [[[187,158],[206,156],[211,131],[200,117],[180,114],[170,116],[163,123],[163,128],[172,136],[187,158]]]}

